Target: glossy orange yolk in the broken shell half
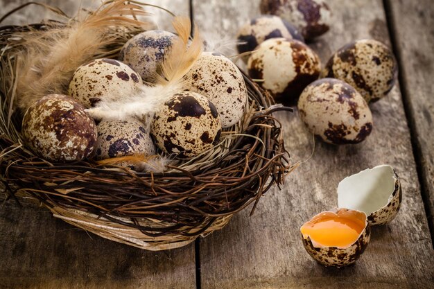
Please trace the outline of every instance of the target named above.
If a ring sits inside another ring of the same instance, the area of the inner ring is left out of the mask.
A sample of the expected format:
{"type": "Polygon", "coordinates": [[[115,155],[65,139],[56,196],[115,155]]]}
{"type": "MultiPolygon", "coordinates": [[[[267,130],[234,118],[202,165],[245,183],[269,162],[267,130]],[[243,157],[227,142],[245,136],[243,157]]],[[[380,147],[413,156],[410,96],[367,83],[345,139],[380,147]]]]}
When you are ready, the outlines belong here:
{"type": "Polygon", "coordinates": [[[301,228],[303,236],[310,236],[324,247],[348,247],[356,242],[363,229],[365,224],[339,216],[324,216],[306,222],[301,228]]]}

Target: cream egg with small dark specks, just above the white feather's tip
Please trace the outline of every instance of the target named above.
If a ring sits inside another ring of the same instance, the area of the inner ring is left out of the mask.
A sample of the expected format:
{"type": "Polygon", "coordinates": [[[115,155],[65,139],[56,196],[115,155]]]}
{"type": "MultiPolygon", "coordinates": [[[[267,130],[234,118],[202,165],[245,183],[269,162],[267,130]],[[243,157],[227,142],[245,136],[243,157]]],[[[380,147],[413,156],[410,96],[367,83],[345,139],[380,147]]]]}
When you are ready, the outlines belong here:
{"type": "Polygon", "coordinates": [[[101,98],[129,96],[139,84],[140,76],[128,65],[101,58],[78,67],[69,83],[69,95],[89,108],[101,98]]]}

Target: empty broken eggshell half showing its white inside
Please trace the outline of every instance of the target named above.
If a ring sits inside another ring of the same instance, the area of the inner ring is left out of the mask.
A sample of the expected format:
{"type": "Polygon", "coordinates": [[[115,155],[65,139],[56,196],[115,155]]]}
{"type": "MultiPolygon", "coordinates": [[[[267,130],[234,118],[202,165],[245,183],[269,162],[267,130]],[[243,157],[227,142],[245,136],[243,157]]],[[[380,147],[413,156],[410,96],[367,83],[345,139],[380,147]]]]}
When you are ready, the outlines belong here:
{"type": "Polygon", "coordinates": [[[370,225],[392,221],[402,200],[401,182],[389,165],[345,177],[338,185],[338,206],[363,211],[370,225]]]}

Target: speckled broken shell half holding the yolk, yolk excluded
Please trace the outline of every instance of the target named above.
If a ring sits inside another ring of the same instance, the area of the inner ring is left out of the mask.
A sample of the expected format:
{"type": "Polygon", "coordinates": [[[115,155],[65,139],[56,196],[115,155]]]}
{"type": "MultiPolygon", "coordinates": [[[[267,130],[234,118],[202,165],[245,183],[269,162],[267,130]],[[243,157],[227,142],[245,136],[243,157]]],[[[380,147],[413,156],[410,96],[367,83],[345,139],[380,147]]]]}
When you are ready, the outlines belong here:
{"type": "Polygon", "coordinates": [[[310,222],[315,222],[320,218],[330,218],[333,216],[338,216],[340,218],[356,218],[358,222],[363,222],[364,229],[361,231],[354,243],[345,247],[330,247],[321,245],[309,235],[303,233],[301,235],[304,249],[306,249],[313,259],[324,266],[341,268],[356,262],[357,259],[360,258],[361,254],[365,252],[367,244],[370,242],[371,229],[368,225],[365,213],[348,209],[324,211],[314,216],[303,226],[309,225],[310,222]]]}

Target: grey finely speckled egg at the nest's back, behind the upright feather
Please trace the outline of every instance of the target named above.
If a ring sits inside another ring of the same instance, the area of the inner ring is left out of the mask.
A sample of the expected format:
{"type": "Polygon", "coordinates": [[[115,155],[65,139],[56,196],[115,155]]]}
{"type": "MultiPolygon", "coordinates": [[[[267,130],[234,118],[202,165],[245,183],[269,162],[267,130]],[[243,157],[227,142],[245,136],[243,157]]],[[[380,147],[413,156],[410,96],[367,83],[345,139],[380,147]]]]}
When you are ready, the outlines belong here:
{"type": "Polygon", "coordinates": [[[146,82],[153,82],[164,53],[170,49],[175,34],[163,30],[148,30],[137,34],[123,46],[119,60],[130,65],[146,82]]]}

